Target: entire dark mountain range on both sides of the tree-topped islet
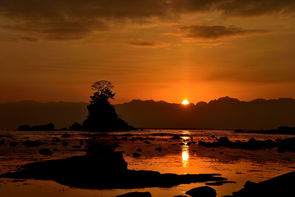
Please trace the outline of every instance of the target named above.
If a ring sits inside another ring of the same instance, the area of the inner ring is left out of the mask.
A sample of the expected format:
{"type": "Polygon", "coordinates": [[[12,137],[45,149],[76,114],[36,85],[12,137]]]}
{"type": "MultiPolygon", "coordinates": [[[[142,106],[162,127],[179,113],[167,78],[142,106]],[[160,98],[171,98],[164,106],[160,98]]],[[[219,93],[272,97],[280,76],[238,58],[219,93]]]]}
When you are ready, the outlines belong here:
{"type": "MultiPolygon", "coordinates": [[[[86,102],[21,101],[0,103],[0,129],[19,125],[54,123],[55,128],[82,123],[88,115],[86,102]]],[[[295,100],[256,99],[249,102],[221,97],[196,105],[154,100],[132,100],[115,107],[135,128],[274,129],[295,126],[295,100]]]]}

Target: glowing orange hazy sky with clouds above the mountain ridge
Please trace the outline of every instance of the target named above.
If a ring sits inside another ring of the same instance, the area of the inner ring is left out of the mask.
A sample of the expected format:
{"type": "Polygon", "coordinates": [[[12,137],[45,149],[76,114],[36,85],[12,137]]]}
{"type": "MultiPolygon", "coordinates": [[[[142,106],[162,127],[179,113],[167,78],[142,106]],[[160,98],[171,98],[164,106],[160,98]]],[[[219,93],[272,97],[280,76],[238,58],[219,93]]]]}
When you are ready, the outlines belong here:
{"type": "Polygon", "coordinates": [[[0,0],[0,102],[295,98],[294,0],[0,0]]]}

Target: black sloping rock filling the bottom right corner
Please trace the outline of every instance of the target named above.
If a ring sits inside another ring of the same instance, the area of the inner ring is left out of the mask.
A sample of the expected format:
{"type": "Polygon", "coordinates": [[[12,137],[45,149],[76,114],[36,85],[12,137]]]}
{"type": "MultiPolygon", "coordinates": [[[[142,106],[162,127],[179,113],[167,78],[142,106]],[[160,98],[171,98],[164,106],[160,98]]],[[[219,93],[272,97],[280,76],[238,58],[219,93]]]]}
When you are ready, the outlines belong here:
{"type": "Polygon", "coordinates": [[[243,189],[232,193],[232,197],[292,196],[294,179],[295,172],[289,172],[260,183],[247,181],[243,189]]]}

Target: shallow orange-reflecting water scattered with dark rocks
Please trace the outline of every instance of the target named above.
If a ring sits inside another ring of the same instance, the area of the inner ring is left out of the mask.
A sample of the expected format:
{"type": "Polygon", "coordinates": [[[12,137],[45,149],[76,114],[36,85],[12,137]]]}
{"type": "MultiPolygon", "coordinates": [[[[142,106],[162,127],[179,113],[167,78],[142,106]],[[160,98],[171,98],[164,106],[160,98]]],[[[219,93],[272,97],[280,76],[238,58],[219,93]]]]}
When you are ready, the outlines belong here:
{"type": "MultiPolygon", "coordinates": [[[[76,155],[83,155],[85,152],[75,151],[71,146],[79,145],[80,140],[90,141],[88,136],[78,136],[81,131],[0,131],[0,135],[11,136],[13,138],[3,137],[0,140],[5,140],[4,145],[0,145],[0,173],[14,172],[19,165],[29,162],[44,161],[48,159],[59,159],[76,155]],[[74,135],[71,138],[61,138],[64,133],[74,135]],[[44,144],[37,147],[25,147],[22,145],[29,137],[30,140],[40,140],[44,144]],[[62,141],[53,142],[53,137],[66,140],[69,144],[64,147],[62,141]],[[47,141],[45,141],[47,140],[47,141]],[[9,143],[16,141],[17,146],[11,147],[9,143]],[[52,145],[56,143],[56,145],[52,145]],[[39,153],[40,148],[57,148],[58,151],[53,152],[52,156],[44,156],[39,153]]],[[[83,132],[94,133],[94,132],[83,132]]],[[[128,163],[128,169],[135,170],[153,170],[160,173],[176,173],[176,174],[199,174],[199,173],[219,173],[229,181],[237,183],[226,183],[221,186],[210,186],[217,192],[217,196],[230,195],[233,191],[238,191],[243,188],[246,181],[260,182],[287,172],[294,171],[289,168],[295,165],[295,153],[286,151],[281,154],[276,151],[277,148],[266,150],[241,150],[229,148],[209,148],[199,146],[197,143],[188,145],[179,145],[181,140],[172,140],[174,135],[180,135],[189,141],[214,141],[209,138],[214,135],[217,138],[227,136],[230,141],[240,140],[248,141],[250,138],[256,140],[266,139],[285,139],[294,137],[291,135],[269,135],[260,133],[235,133],[231,130],[172,130],[172,129],[149,129],[148,131],[114,131],[109,134],[119,135],[124,133],[132,133],[135,137],[155,137],[155,140],[149,140],[151,144],[145,144],[141,140],[117,141],[121,147],[116,148],[116,151],[124,151],[123,157],[128,163]],[[191,139],[192,136],[194,139],[191,139]],[[203,138],[203,139],[202,139],[203,138]],[[171,140],[172,142],[169,142],[171,140]],[[176,145],[172,145],[176,144],[176,145]],[[137,152],[136,149],[142,149],[139,158],[133,158],[132,153],[137,152]],[[162,147],[163,150],[158,152],[157,147],[162,147]],[[214,151],[213,151],[214,149],[214,151]],[[223,154],[220,154],[223,152],[223,154]],[[288,161],[287,158],[291,158],[288,161]],[[239,174],[237,174],[239,173],[239,174]]],[[[120,137],[118,137],[120,138],[120,137]]],[[[127,137],[131,139],[132,137],[127,137]]],[[[113,144],[114,139],[111,136],[101,137],[97,139],[99,142],[113,144]]],[[[83,146],[84,146],[83,145],[83,146]]],[[[83,148],[82,146],[82,148],[83,148]]],[[[108,162],[108,161],[104,161],[108,162]]],[[[92,170],[92,169],[91,169],[92,170]]],[[[85,172],[88,173],[88,172],[85,172]]],[[[124,181],[124,180],[122,180],[124,181]]],[[[140,180],[139,180],[140,181],[140,180]]],[[[204,186],[205,183],[181,184],[170,188],[144,188],[144,189],[112,189],[112,190],[87,190],[70,188],[65,185],[60,185],[54,181],[44,180],[14,180],[0,178],[0,193],[1,196],[73,196],[73,197],[93,197],[104,196],[111,197],[132,191],[149,191],[153,197],[172,197],[176,195],[188,196],[184,192],[199,186],[204,186]]]]}

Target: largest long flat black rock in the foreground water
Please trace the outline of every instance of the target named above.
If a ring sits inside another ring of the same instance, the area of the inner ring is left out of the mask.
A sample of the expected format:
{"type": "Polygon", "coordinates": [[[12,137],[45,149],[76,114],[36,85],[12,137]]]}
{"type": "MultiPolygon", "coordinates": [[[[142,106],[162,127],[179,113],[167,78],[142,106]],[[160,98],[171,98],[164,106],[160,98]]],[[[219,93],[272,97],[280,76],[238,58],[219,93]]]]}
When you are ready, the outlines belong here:
{"type": "Polygon", "coordinates": [[[131,189],[227,180],[214,177],[215,175],[220,174],[176,175],[147,170],[128,170],[122,152],[99,152],[25,164],[22,170],[2,174],[0,177],[54,180],[57,183],[77,188],[131,189]]]}

